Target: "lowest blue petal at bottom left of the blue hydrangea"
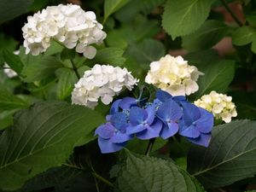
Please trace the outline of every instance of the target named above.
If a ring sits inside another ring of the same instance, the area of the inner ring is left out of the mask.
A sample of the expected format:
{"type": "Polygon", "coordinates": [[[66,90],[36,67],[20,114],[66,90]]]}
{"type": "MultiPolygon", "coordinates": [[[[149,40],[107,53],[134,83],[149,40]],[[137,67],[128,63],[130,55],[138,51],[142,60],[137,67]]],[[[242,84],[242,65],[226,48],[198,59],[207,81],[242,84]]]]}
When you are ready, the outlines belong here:
{"type": "Polygon", "coordinates": [[[126,143],[112,143],[109,139],[98,137],[98,144],[102,154],[113,153],[125,147],[126,143]]]}

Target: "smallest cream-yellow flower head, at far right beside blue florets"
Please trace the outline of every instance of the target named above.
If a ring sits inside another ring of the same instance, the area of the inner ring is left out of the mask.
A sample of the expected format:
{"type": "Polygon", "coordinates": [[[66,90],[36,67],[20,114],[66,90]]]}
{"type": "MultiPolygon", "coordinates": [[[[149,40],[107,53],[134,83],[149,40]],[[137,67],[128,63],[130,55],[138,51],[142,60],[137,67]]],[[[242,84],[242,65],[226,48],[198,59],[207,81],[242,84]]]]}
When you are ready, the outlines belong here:
{"type": "Polygon", "coordinates": [[[195,101],[195,105],[207,109],[216,119],[222,119],[225,123],[230,123],[231,118],[237,116],[232,96],[219,94],[214,90],[208,95],[201,96],[195,101]]]}

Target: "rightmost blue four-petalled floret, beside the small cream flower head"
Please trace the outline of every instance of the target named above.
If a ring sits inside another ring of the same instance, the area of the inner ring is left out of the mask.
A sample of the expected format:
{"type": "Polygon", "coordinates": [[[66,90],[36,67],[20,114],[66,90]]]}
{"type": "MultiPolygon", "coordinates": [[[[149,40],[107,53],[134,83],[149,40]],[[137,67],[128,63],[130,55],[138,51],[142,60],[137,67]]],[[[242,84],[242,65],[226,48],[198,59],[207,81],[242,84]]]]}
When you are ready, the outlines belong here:
{"type": "Polygon", "coordinates": [[[189,102],[183,102],[183,119],[180,121],[179,135],[190,142],[207,147],[211,140],[213,114],[189,102]]]}

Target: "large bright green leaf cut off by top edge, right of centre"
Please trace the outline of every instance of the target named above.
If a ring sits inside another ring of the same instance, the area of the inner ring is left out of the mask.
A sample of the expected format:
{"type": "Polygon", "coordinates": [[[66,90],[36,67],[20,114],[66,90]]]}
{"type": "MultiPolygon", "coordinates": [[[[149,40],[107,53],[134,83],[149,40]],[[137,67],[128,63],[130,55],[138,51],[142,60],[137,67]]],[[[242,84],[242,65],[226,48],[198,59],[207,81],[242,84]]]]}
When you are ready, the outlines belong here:
{"type": "Polygon", "coordinates": [[[172,39],[198,29],[210,13],[212,0],[168,0],[162,25],[172,39]]]}

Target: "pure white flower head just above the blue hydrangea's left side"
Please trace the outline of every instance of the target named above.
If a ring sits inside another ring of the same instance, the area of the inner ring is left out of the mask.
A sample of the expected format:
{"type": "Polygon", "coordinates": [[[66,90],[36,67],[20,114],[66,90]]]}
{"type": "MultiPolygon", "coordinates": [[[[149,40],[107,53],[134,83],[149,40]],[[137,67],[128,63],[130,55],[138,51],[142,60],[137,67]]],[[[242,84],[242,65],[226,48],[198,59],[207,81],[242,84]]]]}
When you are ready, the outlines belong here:
{"type": "Polygon", "coordinates": [[[137,85],[131,72],[126,68],[96,64],[84,72],[84,77],[75,84],[72,92],[72,103],[95,108],[99,99],[108,105],[113,101],[113,96],[127,88],[132,90],[137,85]]]}

